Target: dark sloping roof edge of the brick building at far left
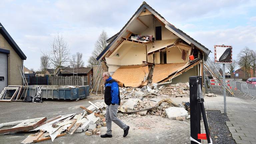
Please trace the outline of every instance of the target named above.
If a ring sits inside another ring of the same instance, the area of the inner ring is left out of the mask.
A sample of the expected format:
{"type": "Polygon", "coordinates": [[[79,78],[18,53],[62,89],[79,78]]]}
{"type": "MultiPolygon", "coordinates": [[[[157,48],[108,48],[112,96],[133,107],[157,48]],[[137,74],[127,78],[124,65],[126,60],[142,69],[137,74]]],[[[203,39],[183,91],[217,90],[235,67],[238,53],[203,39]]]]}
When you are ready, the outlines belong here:
{"type": "Polygon", "coordinates": [[[12,37],[9,35],[9,33],[6,31],[6,29],[3,27],[1,23],[0,23],[0,26],[2,26],[2,28],[0,29],[0,33],[3,35],[6,41],[10,44],[10,46],[14,49],[14,51],[20,56],[22,60],[26,60],[27,57],[25,56],[25,54],[22,52],[19,46],[15,43],[15,41],[12,39],[12,37]]]}

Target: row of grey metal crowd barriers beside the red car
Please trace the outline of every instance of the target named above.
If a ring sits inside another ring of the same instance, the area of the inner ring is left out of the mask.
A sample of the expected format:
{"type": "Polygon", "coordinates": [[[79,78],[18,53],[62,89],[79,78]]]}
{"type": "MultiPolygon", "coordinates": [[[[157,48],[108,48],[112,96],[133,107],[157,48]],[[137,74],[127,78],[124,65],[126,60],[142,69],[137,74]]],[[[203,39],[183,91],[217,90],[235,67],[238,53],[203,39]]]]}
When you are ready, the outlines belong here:
{"type": "MultiPolygon", "coordinates": [[[[251,101],[256,101],[256,84],[250,84],[250,83],[245,83],[245,82],[238,82],[238,81],[230,81],[229,82],[231,87],[234,90],[239,90],[239,94],[243,93],[245,97],[248,95],[252,97],[251,101]]],[[[238,95],[239,95],[238,94],[238,95]]]]}

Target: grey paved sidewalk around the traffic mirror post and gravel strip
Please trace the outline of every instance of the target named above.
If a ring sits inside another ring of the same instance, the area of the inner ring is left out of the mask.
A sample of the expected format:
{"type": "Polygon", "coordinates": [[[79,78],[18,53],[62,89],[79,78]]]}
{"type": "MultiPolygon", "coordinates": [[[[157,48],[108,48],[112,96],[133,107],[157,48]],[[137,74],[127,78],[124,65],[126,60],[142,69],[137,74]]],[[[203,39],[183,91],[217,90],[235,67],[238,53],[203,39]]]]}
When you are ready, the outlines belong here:
{"type": "MultiPolygon", "coordinates": [[[[223,94],[218,89],[213,93],[217,97],[207,98],[205,108],[208,110],[221,110],[224,113],[223,94]]],[[[251,97],[238,95],[239,91],[234,91],[236,97],[227,96],[227,116],[230,122],[226,122],[232,137],[237,144],[256,144],[256,102],[251,101],[251,97]]]]}

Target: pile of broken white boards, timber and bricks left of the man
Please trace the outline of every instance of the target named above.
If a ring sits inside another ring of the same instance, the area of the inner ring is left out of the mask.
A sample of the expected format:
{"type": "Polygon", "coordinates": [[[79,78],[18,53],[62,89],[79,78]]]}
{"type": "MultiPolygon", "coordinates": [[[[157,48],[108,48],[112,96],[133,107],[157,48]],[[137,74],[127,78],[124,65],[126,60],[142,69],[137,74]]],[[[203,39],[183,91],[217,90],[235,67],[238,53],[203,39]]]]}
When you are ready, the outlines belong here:
{"type": "Polygon", "coordinates": [[[1,123],[0,128],[4,126],[14,126],[12,128],[0,129],[0,134],[17,133],[25,131],[36,131],[24,139],[21,144],[30,144],[45,140],[54,141],[55,138],[67,134],[85,132],[86,135],[100,135],[100,128],[106,125],[105,108],[103,102],[92,103],[89,107],[81,106],[82,113],[60,115],[50,119],[46,117],[1,123]]]}

